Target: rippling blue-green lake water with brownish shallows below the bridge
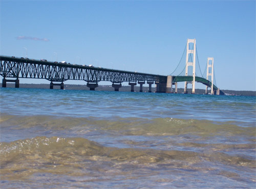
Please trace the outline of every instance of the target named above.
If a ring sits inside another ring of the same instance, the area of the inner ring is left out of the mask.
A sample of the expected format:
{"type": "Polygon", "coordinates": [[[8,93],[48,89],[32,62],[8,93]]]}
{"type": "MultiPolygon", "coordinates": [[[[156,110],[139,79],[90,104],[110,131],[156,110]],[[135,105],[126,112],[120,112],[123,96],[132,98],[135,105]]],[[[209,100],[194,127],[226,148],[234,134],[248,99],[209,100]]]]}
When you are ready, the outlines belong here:
{"type": "Polygon", "coordinates": [[[255,188],[255,97],[1,88],[1,188],[255,188]]]}

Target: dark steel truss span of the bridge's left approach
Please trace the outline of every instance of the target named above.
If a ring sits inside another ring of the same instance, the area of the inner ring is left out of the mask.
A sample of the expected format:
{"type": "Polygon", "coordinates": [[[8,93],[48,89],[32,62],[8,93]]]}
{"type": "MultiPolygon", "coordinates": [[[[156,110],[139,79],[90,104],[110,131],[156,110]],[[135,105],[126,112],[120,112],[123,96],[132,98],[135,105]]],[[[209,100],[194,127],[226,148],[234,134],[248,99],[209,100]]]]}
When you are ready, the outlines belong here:
{"type": "Polygon", "coordinates": [[[110,81],[112,83],[137,81],[166,82],[167,80],[167,76],[47,62],[45,60],[7,56],[0,56],[0,59],[0,75],[4,78],[37,78],[47,79],[51,82],[84,80],[90,83],[98,83],[99,81],[110,81]]]}

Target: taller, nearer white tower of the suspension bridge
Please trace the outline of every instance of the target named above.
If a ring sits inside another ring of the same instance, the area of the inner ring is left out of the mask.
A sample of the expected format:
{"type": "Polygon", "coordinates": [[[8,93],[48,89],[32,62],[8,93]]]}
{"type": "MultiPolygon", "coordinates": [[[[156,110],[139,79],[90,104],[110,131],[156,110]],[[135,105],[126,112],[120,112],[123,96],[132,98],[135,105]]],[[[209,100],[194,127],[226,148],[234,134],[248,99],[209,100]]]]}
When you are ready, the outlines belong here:
{"type": "MultiPolygon", "coordinates": [[[[186,71],[185,76],[188,74],[188,66],[193,66],[193,82],[192,93],[195,94],[195,82],[196,82],[196,39],[187,39],[187,55],[186,55],[186,71]],[[194,48],[189,49],[189,43],[194,43],[194,48]],[[193,62],[188,62],[188,55],[193,54],[193,62]]],[[[184,93],[187,93],[187,81],[185,81],[184,93]]]]}

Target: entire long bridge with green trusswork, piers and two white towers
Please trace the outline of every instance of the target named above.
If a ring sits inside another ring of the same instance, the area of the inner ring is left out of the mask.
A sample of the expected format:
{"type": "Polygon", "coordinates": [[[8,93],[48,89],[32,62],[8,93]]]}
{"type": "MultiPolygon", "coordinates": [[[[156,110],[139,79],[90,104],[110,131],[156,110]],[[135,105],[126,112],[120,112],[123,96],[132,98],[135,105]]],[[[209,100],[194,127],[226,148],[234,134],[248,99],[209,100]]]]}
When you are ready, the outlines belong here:
{"type": "Polygon", "coordinates": [[[162,76],[93,67],[91,65],[51,62],[45,59],[35,60],[27,57],[17,58],[14,56],[0,56],[0,75],[3,77],[2,87],[6,87],[7,82],[14,82],[15,87],[18,88],[19,78],[35,78],[50,81],[50,89],[53,89],[54,85],[58,85],[60,86],[60,89],[64,89],[63,82],[67,80],[83,80],[87,82],[87,87],[89,87],[90,90],[95,90],[100,81],[110,81],[112,82],[112,87],[114,87],[115,91],[119,91],[119,88],[122,86],[122,82],[129,82],[129,85],[131,85],[131,91],[134,91],[134,86],[139,84],[140,92],[142,92],[143,84],[147,83],[149,86],[148,92],[152,92],[152,84],[155,83],[156,92],[177,93],[177,83],[185,82],[184,93],[187,93],[187,85],[189,83],[192,84],[192,93],[195,93],[195,83],[200,82],[206,86],[206,94],[208,93],[209,87],[210,94],[224,95],[224,93],[214,84],[214,58],[208,58],[207,60],[206,77],[203,77],[205,72],[202,74],[198,61],[199,70],[202,76],[199,77],[196,75],[196,57],[198,58],[196,39],[187,39],[187,44],[182,58],[174,72],[168,76],[162,76]],[[182,66],[181,62],[184,57],[185,50],[186,61],[182,66]],[[176,74],[180,68],[182,68],[182,71],[179,74],[176,74]],[[174,91],[173,85],[175,85],[174,91]]]}

